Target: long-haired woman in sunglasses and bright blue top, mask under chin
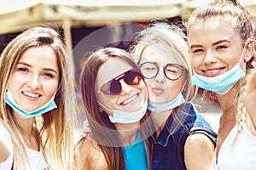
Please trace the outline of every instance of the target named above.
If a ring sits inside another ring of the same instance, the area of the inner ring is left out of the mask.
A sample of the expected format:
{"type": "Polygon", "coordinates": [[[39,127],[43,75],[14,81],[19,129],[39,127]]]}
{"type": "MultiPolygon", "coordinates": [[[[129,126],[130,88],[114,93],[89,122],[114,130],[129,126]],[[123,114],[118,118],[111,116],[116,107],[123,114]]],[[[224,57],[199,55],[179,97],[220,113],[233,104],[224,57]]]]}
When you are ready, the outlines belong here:
{"type": "Polygon", "coordinates": [[[145,137],[138,130],[147,111],[147,88],[130,54],[119,48],[91,54],[80,91],[91,131],[76,149],[78,168],[148,169],[145,137]]]}

